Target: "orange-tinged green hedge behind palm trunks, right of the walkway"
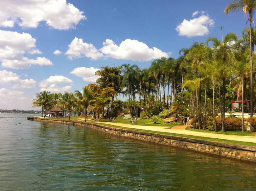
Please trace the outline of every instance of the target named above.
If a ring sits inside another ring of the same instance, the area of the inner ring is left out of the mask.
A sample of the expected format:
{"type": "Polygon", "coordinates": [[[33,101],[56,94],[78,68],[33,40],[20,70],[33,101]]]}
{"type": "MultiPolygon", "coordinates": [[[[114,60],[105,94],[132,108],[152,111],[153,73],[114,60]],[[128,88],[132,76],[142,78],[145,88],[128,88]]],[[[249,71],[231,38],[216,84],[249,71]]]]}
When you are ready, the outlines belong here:
{"type": "MultiPolygon", "coordinates": [[[[221,130],[221,117],[216,117],[217,131],[221,130]]],[[[226,131],[239,131],[242,127],[242,119],[240,117],[225,117],[226,131]]]]}

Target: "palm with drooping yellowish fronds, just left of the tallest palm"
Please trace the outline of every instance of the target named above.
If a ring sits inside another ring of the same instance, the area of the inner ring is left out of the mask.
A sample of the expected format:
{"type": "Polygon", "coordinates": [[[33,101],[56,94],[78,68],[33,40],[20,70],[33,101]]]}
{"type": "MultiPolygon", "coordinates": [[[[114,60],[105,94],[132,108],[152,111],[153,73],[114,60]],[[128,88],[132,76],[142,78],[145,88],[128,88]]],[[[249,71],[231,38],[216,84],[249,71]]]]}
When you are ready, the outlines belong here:
{"type": "Polygon", "coordinates": [[[234,72],[237,76],[230,82],[230,87],[234,90],[241,90],[242,94],[242,132],[244,132],[244,79],[250,71],[250,56],[249,51],[239,52],[238,62],[235,64],[234,72]]]}

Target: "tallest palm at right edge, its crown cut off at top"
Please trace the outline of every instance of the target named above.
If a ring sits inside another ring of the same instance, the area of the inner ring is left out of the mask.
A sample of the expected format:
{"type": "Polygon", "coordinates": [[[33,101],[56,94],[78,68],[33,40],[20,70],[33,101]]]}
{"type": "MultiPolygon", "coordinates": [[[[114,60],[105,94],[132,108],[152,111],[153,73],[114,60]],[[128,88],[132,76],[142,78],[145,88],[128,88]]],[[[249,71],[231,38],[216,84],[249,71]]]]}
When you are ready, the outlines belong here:
{"type": "MultiPolygon", "coordinates": [[[[244,17],[247,13],[249,14],[248,21],[250,22],[250,132],[253,132],[252,118],[253,118],[253,42],[252,42],[252,22],[253,14],[256,10],[256,0],[232,0],[225,8],[225,13],[228,15],[229,12],[238,12],[241,9],[244,11],[244,17]]],[[[247,22],[248,22],[247,21],[247,22]]],[[[246,23],[247,23],[246,22],[246,23]]]]}

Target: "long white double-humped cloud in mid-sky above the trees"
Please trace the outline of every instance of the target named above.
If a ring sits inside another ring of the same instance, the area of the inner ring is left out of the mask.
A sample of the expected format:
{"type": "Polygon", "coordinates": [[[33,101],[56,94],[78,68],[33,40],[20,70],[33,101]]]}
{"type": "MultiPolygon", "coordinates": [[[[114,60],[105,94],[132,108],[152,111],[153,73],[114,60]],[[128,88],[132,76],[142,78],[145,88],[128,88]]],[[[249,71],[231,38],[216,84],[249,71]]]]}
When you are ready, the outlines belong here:
{"type": "Polygon", "coordinates": [[[69,50],[65,53],[69,59],[88,57],[92,60],[99,58],[114,58],[133,61],[149,61],[156,58],[168,57],[168,53],[156,47],[149,48],[145,43],[137,40],[126,39],[120,45],[116,45],[113,40],[106,39],[103,47],[99,50],[93,44],[83,42],[77,37],[69,45],[69,50]]]}

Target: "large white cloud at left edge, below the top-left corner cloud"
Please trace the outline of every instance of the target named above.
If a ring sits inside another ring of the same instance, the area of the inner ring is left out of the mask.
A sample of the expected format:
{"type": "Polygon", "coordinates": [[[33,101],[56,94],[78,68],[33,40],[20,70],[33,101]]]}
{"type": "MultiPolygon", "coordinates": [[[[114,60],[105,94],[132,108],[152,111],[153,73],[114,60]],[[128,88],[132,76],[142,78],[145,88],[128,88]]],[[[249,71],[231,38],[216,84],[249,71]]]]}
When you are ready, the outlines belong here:
{"type": "Polygon", "coordinates": [[[11,69],[30,68],[33,64],[52,65],[45,57],[30,59],[24,54],[41,54],[36,48],[36,39],[28,33],[0,30],[0,61],[2,67],[11,69]]]}

